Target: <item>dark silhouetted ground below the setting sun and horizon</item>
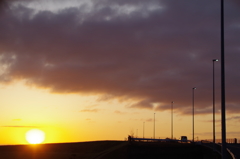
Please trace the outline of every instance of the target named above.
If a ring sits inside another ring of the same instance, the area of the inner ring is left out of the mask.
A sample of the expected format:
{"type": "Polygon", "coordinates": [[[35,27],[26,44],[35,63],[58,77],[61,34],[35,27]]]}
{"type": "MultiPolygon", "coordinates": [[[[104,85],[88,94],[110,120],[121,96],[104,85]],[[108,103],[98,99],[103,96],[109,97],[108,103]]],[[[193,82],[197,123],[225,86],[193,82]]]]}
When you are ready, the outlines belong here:
{"type": "Polygon", "coordinates": [[[218,159],[201,145],[95,141],[0,146],[1,159],[218,159]]]}

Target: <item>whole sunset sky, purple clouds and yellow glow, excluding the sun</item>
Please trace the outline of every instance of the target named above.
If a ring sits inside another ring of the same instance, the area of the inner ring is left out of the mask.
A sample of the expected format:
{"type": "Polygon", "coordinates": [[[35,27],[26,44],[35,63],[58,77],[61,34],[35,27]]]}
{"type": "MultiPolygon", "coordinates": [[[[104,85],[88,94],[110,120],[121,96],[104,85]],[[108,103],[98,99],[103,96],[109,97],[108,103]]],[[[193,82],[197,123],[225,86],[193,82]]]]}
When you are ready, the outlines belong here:
{"type": "MultiPolygon", "coordinates": [[[[0,3],[0,144],[221,138],[220,1],[0,3]],[[155,113],[155,115],[154,115],[155,113]]],[[[240,3],[225,1],[227,138],[240,139],[240,3]]]]}

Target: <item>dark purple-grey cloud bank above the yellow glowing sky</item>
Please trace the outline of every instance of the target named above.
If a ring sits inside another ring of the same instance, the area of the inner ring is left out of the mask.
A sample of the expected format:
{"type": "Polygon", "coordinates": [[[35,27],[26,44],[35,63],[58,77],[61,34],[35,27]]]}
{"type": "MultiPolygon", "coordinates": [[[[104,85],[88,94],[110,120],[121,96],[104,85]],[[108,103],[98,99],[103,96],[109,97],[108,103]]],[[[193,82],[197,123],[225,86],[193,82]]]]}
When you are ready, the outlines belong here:
{"type": "MultiPolygon", "coordinates": [[[[24,1],[27,3],[28,1],[24,1]]],[[[57,93],[134,99],[134,108],[211,113],[212,59],[220,58],[220,2],[92,1],[51,12],[8,4],[0,16],[1,82],[57,93]],[[130,9],[131,8],[131,9],[130,9]],[[160,104],[159,104],[160,103],[160,104]]],[[[238,113],[240,5],[226,3],[227,111],[238,113]]],[[[220,62],[215,63],[220,106],[220,62]]]]}

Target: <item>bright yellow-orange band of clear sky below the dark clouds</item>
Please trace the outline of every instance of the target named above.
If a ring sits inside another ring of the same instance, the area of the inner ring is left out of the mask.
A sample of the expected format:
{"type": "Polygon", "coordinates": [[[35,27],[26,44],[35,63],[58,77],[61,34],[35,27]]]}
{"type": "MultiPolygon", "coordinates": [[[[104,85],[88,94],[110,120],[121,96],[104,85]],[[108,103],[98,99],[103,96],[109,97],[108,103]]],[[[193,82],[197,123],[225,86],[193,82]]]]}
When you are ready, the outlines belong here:
{"type": "MultiPolygon", "coordinates": [[[[51,94],[24,83],[3,86],[0,90],[1,115],[0,145],[29,144],[26,133],[31,129],[45,132],[45,143],[66,143],[96,140],[125,140],[131,131],[135,136],[151,138],[153,110],[127,108],[129,102],[99,101],[99,96],[79,94],[51,94]]],[[[217,116],[218,118],[219,116],[217,116]]],[[[156,137],[171,136],[170,111],[156,113],[156,137]]],[[[191,139],[191,115],[174,112],[173,137],[191,139]]],[[[211,115],[196,115],[195,136],[211,139],[211,115]]],[[[229,126],[233,133],[236,124],[229,126]]],[[[220,138],[220,124],[216,125],[216,138],[220,138]]],[[[236,135],[230,136],[237,138],[236,135]]],[[[228,138],[229,138],[228,137],[228,138]]]]}

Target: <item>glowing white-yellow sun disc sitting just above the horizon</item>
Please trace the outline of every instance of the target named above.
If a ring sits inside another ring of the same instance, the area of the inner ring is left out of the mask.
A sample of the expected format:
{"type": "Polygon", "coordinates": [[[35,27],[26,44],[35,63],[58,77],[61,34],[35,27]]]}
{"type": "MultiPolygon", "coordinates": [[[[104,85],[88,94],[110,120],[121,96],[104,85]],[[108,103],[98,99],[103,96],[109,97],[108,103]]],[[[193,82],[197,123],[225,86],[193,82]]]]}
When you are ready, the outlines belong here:
{"type": "Polygon", "coordinates": [[[45,133],[39,129],[31,129],[26,133],[26,140],[30,144],[40,144],[45,140],[45,133]]]}

